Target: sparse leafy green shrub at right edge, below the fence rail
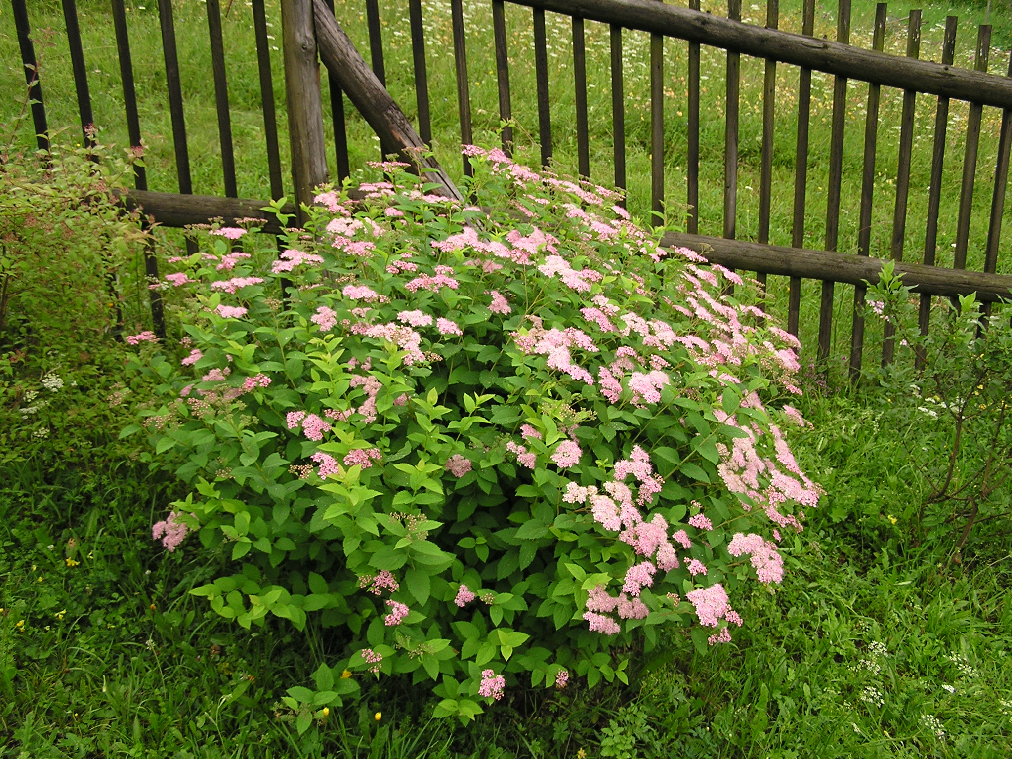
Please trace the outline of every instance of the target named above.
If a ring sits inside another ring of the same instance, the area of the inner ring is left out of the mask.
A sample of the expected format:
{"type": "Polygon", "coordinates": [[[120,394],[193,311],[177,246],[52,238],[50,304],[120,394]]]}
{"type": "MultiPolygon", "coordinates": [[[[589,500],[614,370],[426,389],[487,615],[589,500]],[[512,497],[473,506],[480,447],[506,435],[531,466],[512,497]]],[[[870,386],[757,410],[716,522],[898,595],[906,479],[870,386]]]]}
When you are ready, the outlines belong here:
{"type": "Polygon", "coordinates": [[[958,563],[975,527],[1001,534],[1009,518],[1012,328],[1005,318],[988,318],[990,309],[982,311],[971,294],[939,304],[946,318],[922,335],[917,303],[887,267],[870,309],[921,360],[904,356],[883,371],[884,416],[910,429],[905,444],[924,482],[910,516],[921,532],[951,539],[958,563]]]}

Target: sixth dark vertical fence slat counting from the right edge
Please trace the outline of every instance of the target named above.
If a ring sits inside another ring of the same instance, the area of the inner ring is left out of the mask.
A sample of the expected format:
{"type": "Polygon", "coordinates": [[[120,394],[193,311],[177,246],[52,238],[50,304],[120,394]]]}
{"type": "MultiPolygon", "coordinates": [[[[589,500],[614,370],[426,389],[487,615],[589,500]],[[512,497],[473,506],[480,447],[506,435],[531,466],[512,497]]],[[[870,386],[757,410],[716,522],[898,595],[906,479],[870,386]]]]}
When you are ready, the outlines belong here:
{"type": "MultiPolygon", "coordinates": [[[[836,40],[850,43],[850,0],[837,6],[836,40]]],[[[840,233],[840,184],[843,179],[843,130],[847,118],[847,77],[833,78],[833,124],[830,135],[829,183],[826,192],[826,245],[835,251],[840,233]]],[[[824,279],[819,305],[819,361],[829,358],[833,336],[833,294],[836,282],[824,279]]]]}

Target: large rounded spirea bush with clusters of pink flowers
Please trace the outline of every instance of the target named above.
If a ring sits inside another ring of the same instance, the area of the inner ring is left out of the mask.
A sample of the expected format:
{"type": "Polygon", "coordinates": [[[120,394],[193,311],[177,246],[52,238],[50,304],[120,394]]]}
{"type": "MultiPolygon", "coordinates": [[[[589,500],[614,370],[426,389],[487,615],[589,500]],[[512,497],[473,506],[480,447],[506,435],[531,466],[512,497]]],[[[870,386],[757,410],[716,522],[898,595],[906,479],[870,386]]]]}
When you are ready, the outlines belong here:
{"type": "Polygon", "coordinates": [[[279,255],[200,233],[165,283],[184,357],[138,364],[162,381],[155,459],[194,488],[155,537],[235,567],[192,592],[334,630],[286,697],[301,729],[361,677],[432,680],[467,721],[521,685],[627,682],[661,625],[730,641],[819,498],[776,401],[794,340],[722,294],[746,282],[614,192],[469,153],[485,209],[387,164],[279,255]]]}

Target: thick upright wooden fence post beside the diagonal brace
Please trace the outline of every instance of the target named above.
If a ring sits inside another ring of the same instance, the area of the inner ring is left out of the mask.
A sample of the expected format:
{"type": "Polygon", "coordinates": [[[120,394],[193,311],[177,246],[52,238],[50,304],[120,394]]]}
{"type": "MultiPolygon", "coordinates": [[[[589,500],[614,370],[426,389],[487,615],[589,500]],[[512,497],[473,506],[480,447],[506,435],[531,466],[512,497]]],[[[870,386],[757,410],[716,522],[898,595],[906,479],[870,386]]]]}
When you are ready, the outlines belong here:
{"type": "Polygon", "coordinates": [[[327,181],[313,0],[285,0],[281,3],[281,36],[288,138],[291,143],[291,179],[296,188],[297,219],[302,225],[306,221],[302,203],[312,203],[314,187],[327,181]]]}

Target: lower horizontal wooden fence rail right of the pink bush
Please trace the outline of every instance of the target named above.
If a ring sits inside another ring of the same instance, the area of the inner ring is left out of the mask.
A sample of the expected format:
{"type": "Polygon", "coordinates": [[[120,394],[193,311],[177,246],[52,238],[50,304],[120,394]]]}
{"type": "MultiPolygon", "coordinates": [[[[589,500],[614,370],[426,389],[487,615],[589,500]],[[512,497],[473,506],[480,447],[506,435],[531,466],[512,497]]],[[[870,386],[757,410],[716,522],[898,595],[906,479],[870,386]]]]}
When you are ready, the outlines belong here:
{"type": "MultiPolygon", "coordinates": [[[[782,245],[762,245],[722,237],[668,233],[661,244],[683,247],[704,255],[711,263],[734,269],[747,269],[766,274],[822,279],[848,284],[878,281],[878,273],[888,263],[881,258],[848,253],[802,250],[782,245]]],[[[1012,275],[987,274],[980,271],[946,269],[920,263],[896,262],[896,272],[903,274],[905,284],[926,296],[968,296],[978,301],[995,303],[1012,298],[1012,275]]]]}

